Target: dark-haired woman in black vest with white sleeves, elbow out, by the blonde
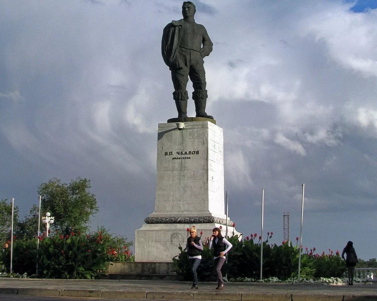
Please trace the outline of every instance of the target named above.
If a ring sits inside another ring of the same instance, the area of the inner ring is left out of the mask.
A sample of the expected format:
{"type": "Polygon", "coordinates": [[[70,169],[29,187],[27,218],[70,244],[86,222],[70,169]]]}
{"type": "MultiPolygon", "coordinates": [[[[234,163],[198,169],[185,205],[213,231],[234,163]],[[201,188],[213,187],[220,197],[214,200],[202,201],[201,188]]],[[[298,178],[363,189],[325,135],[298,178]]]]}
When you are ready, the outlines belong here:
{"type": "Polygon", "coordinates": [[[212,236],[210,238],[211,249],[213,247],[213,260],[216,266],[216,274],[218,279],[218,286],[216,289],[224,288],[224,281],[222,281],[221,267],[225,262],[225,254],[231,249],[232,244],[227,239],[221,236],[220,228],[216,227],[212,230],[212,236]]]}

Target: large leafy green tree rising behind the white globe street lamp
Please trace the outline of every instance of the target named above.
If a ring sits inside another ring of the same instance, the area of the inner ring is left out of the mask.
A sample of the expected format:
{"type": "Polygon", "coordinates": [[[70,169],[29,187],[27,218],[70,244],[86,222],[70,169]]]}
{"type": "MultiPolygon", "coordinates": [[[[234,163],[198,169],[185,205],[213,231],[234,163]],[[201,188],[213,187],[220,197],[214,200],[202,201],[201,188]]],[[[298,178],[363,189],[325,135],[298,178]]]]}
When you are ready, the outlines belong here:
{"type": "Polygon", "coordinates": [[[69,233],[71,229],[85,232],[90,216],[98,212],[95,195],[89,192],[90,180],[78,177],[69,184],[53,178],[38,187],[42,196],[42,215],[47,211],[55,217],[52,229],[69,233]]]}

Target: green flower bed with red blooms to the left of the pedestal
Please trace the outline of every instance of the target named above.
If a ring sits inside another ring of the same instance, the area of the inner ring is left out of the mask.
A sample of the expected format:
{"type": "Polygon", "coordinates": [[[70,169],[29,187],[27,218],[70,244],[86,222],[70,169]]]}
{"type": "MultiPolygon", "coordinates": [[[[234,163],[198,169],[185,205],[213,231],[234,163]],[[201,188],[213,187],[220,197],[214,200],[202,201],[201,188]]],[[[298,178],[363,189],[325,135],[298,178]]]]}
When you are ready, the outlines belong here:
{"type": "MultiPolygon", "coordinates": [[[[80,231],[37,239],[15,240],[13,271],[41,278],[99,279],[110,261],[133,261],[127,238],[112,236],[101,228],[92,234],[80,231]]],[[[2,252],[4,262],[10,260],[10,248],[2,252]]],[[[8,267],[7,267],[8,268],[8,267]]],[[[7,271],[7,270],[6,270],[7,271]]]]}

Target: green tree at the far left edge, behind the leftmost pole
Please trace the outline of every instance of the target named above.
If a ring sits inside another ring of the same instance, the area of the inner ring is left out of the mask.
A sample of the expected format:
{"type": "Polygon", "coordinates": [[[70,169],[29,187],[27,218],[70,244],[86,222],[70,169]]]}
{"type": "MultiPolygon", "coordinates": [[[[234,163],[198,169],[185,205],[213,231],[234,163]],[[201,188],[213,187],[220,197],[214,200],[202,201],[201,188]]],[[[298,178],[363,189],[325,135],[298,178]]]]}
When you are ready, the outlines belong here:
{"type": "MultiPolygon", "coordinates": [[[[13,208],[13,231],[17,230],[18,207],[13,208]]],[[[7,199],[0,201],[0,244],[1,247],[11,239],[12,228],[12,203],[8,204],[7,199]]]]}

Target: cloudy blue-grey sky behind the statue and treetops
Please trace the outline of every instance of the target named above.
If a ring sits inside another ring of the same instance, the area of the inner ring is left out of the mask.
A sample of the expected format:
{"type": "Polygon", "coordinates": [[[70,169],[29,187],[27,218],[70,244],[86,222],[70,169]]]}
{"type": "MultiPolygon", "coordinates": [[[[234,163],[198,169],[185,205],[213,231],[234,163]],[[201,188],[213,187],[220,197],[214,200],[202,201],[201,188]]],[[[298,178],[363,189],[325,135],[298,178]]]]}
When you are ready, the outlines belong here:
{"type": "MultiPolygon", "coordinates": [[[[177,114],[161,36],[182,1],[0,3],[0,199],[22,217],[42,182],[88,178],[92,228],[134,240],[154,210],[158,123],[177,114]]],[[[305,183],[304,247],[377,257],[376,3],[194,3],[237,230],[260,234],[265,189],[266,232],[281,243],[289,211],[295,241],[305,183]]]]}

